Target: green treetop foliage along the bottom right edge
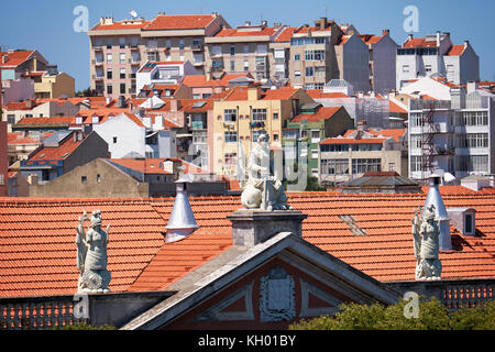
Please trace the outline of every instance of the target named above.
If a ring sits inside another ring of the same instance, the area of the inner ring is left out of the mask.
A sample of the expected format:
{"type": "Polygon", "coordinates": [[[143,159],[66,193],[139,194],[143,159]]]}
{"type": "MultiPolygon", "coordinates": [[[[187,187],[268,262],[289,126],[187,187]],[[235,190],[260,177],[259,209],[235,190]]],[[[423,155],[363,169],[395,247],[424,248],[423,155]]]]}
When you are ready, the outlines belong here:
{"type": "Polygon", "coordinates": [[[293,323],[290,330],[495,330],[495,301],[484,308],[449,312],[438,300],[421,300],[419,317],[406,318],[407,301],[371,306],[344,304],[333,317],[323,316],[293,323]]]}

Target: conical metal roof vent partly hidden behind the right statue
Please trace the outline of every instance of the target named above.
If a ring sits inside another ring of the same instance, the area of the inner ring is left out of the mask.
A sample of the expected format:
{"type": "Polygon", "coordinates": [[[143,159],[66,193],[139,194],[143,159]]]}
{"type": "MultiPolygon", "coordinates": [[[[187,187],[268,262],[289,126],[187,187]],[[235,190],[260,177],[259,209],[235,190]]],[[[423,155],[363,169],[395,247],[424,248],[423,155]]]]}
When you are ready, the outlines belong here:
{"type": "Polygon", "coordinates": [[[446,205],[443,204],[442,196],[440,195],[440,190],[438,189],[438,186],[441,185],[442,177],[443,172],[439,169],[435,170],[430,175],[430,188],[422,208],[422,216],[425,216],[427,207],[430,205],[435,206],[436,219],[440,220],[440,251],[450,251],[452,250],[450,239],[450,218],[447,212],[446,205]]]}

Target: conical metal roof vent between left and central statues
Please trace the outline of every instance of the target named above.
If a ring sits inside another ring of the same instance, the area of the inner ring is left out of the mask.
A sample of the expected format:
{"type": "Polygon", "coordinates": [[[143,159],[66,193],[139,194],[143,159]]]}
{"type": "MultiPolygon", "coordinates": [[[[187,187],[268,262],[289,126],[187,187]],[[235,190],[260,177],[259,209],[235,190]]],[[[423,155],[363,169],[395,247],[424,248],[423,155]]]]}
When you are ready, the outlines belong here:
{"type": "Polygon", "coordinates": [[[189,183],[190,180],[184,177],[175,182],[177,195],[175,196],[174,208],[172,209],[168,224],[165,227],[167,230],[165,237],[166,243],[180,241],[193,234],[199,228],[190,208],[189,198],[187,197],[187,184],[189,183]]]}

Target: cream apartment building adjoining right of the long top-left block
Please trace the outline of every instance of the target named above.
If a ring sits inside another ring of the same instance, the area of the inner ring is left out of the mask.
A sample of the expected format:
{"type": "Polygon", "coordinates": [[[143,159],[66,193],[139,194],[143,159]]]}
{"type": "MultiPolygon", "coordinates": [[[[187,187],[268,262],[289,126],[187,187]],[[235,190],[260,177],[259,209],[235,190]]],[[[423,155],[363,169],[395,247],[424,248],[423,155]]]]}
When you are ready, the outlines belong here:
{"type": "Polygon", "coordinates": [[[206,37],[206,72],[251,73],[258,81],[267,80],[275,65],[270,45],[284,29],[280,24],[268,28],[266,21],[260,25],[245,22],[206,37]]]}

